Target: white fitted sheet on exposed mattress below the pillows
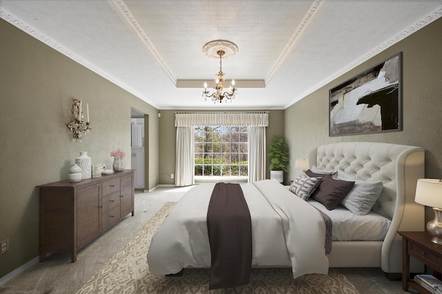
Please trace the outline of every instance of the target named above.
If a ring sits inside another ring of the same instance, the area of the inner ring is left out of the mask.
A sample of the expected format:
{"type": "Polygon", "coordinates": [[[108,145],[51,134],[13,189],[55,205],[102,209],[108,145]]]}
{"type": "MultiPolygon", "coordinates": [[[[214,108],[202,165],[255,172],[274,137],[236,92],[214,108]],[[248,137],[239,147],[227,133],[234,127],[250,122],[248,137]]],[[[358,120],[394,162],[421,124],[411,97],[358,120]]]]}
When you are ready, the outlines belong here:
{"type": "Polygon", "coordinates": [[[390,219],[372,211],[367,215],[354,215],[342,205],[334,210],[327,210],[323,204],[313,199],[307,202],[332,219],[332,241],[382,241],[390,228],[390,219]]]}

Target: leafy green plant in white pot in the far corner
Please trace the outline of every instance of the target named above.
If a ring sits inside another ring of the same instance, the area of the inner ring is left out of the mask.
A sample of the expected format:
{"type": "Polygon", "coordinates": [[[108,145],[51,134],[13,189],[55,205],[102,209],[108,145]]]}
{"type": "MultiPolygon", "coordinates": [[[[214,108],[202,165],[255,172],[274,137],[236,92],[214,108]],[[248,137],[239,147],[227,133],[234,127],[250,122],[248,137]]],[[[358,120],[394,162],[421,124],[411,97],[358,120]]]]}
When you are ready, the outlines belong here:
{"type": "Polygon", "coordinates": [[[287,170],[287,162],[289,161],[289,146],[284,141],[273,135],[273,142],[269,144],[270,158],[270,179],[276,179],[278,182],[284,182],[284,171],[287,170]]]}

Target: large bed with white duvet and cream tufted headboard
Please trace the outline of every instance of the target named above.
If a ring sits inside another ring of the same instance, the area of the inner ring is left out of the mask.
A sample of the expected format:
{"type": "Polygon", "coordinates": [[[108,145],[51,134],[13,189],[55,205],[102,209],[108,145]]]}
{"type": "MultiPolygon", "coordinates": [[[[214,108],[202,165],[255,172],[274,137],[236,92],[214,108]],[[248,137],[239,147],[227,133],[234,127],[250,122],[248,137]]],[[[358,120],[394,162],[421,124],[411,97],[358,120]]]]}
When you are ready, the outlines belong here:
{"type": "MultiPolygon", "coordinates": [[[[334,240],[329,253],[324,237],[327,226],[318,217],[320,205],[311,205],[311,199],[306,202],[272,180],[241,184],[251,215],[252,266],[289,266],[294,277],[326,274],[329,267],[381,267],[387,274],[401,273],[397,231],[424,230],[424,208],[414,202],[416,181],[424,177],[424,154],[419,147],[372,142],[327,144],[311,150],[309,164],[316,172],[382,182],[382,193],[369,212],[385,219],[382,239],[334,240]],[[294,237],[294,232],[302,237],[294,237]]],[[[151,273],[167,275],[182,268],[211,266],[206,214],[214,185],[191,188],[166,217],[148,251],[151,273]]],[[[331,211],[339,209],[346,210],[338,206],[331,211]]],[[[412,262],[411,271],[422,272],[423,265],[412,262]]]]}

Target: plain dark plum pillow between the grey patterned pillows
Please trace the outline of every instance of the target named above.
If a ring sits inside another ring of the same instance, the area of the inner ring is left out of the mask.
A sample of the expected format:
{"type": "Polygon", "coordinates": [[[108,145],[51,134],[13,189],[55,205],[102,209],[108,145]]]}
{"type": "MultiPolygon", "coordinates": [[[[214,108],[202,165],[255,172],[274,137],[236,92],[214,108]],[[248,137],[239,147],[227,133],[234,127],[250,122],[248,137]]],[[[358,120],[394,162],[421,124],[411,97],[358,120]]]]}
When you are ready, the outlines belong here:
{"type": "MultiPolygon", "coordinates": [[[[305,172],[309,177],[320,177],[321,174],[313,173],[311,170],[305,172]]],[[[354,182],[333,179],[332,175],[322,175],[316,191],[311,194],[311,199],[323,204],[328,210],[333,210],[347,196],[354,186],[354,182]]]]}

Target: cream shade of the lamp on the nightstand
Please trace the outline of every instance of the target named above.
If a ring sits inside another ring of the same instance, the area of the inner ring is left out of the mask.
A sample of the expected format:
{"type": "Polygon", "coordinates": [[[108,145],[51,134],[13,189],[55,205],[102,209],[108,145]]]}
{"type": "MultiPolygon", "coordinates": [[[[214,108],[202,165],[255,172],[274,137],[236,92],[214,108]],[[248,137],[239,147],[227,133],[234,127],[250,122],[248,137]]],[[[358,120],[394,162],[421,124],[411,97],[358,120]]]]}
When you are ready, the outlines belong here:
{"type": "Polygon", "coordinates": [[[414,201],[426,206],[442,208],[442,181],[418,179],[414,201]]]}

